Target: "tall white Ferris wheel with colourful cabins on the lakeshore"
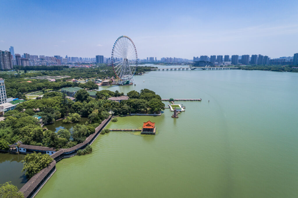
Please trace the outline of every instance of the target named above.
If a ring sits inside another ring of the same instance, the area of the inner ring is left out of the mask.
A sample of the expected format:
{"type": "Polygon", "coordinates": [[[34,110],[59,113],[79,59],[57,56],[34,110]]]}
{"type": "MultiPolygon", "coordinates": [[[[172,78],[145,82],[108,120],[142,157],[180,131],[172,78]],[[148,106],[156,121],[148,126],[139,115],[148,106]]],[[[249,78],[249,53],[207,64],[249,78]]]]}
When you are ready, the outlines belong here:
{"type": "Polygon", "coordinates": [[[138,55],[134,42],[128,36],[120,36],[113,45],[112,65],[119,79],[119,85],[134,84],[134,74],[138,65],[138,55]]]}

